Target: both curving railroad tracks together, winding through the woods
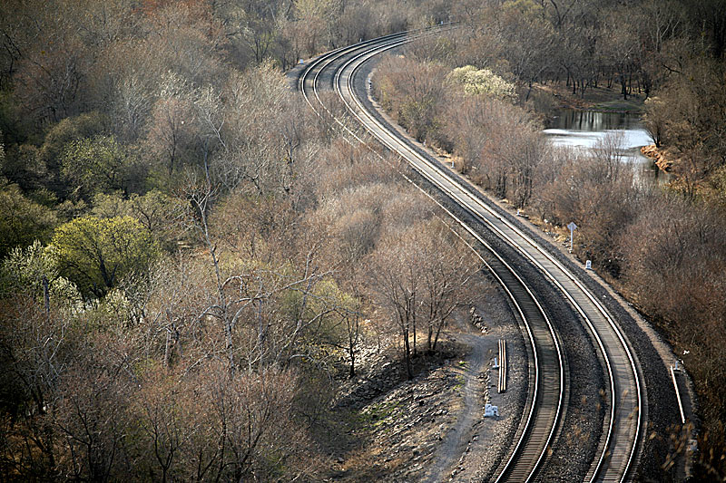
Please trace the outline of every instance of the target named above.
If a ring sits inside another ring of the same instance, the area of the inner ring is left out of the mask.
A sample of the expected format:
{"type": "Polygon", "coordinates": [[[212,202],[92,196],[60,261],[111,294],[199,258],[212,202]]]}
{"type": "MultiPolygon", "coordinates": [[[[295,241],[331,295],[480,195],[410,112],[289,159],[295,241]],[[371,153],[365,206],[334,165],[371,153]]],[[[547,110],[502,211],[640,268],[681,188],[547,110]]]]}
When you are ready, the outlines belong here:
{"type": "MultiPolygon", "coordinates": [[[[365,87],[360,89],[360,82],[356,83],[357,72],[362,65],[418,35],[433,33],[434,29],[393,34],[323,54],[301,72],[299,90],[312,109],[323,115],[328,109],[320,101],[319,86],[333,88],[352,116],[373,138],[406,159],[420,177],[464,210],[466,217],[457,216],[436,198],[430,197],[446,210],[457,225],[480,243],[484,251],[480,255],[482,260],[486,261],[515,306],[515,313],[525,327],[525,340],[528,339],[531,347],[530,397],[516,442],[509,458],[497,469],[496,480],[528,481],[536,477],[537,470],[546,458],[547,449],[553,443],[562,413],[564,362],[556,333],[535,294],[525,284],[523,277],[479,235],[480,227],[486,227],[496,237],[514,247],[531,266],[541,271],[556,287],[558,295],[580,314],[592,334],[606,368],[610,411],[603,421],[603,437],[596,451],[597,456],[584,479],[627,480],[641,439],[643,388],[633,354],[617,324],[594,295],[554,256],[550,256],[515,223],[490,206],[475,188],[456,173],[446,169],[426,150],[401,136],[397,130],[379,121],[368,111],[363,101],[365,87]]],[[[350,138],[368,142],[350,130],[343,121],[333,121],[338,122],[350,138]]]]}

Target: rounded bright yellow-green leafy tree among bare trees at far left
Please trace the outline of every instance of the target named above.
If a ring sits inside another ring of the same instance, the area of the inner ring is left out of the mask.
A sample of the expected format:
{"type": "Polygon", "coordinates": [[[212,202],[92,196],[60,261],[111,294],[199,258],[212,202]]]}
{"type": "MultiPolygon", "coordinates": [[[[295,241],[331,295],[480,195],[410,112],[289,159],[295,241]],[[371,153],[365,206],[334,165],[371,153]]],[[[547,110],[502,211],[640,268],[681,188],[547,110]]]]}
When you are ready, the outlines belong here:
{"type": "Polygon", "coordinates": [[[80,217],[55,230],[51,243],[61,274],[83,295],[102,296],[125,276],[144,272],[158,248],[132,217],[80,217]]]}

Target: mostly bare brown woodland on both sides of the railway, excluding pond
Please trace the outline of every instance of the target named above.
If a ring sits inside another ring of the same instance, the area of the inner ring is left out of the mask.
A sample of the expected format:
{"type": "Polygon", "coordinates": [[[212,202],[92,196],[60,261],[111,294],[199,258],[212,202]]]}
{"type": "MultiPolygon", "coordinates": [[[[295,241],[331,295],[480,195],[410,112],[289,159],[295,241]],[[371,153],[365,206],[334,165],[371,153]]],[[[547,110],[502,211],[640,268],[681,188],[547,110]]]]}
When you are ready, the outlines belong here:
{"type": "Polygon", "coordinates": [[[0,474],[327,478],[320,433],[365,349],[408,378],[478,262],[396,160],[342,140],[284,72],[453,21],[382,61],[381,105],[646,314],[726,462],[726,2],[6,0],[0,4],[0,474]],[[552,150],[552,92],[639,100],[672,160],[552,150]],[[573,187],[581,187],[574,189],[573,187]],[[418,336],[418,340],[417,340],[418,336]]]}

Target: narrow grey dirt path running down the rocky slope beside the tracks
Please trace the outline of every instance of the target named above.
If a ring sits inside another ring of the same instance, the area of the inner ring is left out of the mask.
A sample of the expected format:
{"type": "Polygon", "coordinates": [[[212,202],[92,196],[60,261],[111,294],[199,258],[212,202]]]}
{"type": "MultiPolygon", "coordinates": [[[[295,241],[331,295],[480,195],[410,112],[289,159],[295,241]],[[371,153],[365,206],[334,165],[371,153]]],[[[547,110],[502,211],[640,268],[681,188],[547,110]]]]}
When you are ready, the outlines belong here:
{"type": "Polygon", "coordinates": [[[455,426],[446,433],[437,449],[429,474],[427,483],[438,483],[448,480],[446,478],[452,466],[461,458],[466,451],[468,441],[474,431],[474,425],[484,416],[482,400],[482,380],[480,375],[486,371],[488,358],[486,351],[490,348],[491,342],[486,336],[472,333],[457,333],[456,341],[466,343],[471,347],[471,353],[466,357],[466,368],[464,371],[464,407],[456,415],[455,426]]]}

